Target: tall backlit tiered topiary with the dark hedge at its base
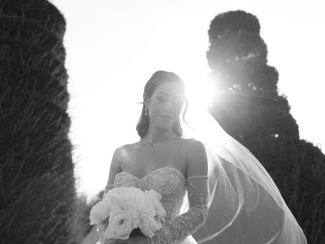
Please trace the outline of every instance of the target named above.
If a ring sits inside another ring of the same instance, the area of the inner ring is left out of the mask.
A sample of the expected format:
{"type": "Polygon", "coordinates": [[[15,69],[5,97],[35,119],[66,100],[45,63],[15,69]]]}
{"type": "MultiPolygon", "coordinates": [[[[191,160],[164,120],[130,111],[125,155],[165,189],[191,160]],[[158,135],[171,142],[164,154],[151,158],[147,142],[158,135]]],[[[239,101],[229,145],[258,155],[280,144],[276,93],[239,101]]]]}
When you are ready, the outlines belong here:
{"type": "Polygon", "coordinates": [[[210,113],[264,165],[303,228],[325,243],[325,156],[299,139],[278,72],[267,64],[258,19],[244,11],[216,16],[209,29],[210,76],[219,92],[210,113]]]}

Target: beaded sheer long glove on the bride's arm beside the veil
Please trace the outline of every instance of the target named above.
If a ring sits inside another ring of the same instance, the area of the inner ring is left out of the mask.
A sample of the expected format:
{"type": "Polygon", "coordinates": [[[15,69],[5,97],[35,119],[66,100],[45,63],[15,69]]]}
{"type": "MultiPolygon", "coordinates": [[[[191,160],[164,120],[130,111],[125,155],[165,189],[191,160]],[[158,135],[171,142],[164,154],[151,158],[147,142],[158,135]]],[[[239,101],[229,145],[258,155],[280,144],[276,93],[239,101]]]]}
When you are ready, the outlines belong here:
{"type": "Polygon", "coordinates": [[[186,183],[188,211],[164,223],[152,238],[147,237],[149,244],[171,244],[184,240],[204,224],[208,215],[208,176],[190,176],[186,183]]]}

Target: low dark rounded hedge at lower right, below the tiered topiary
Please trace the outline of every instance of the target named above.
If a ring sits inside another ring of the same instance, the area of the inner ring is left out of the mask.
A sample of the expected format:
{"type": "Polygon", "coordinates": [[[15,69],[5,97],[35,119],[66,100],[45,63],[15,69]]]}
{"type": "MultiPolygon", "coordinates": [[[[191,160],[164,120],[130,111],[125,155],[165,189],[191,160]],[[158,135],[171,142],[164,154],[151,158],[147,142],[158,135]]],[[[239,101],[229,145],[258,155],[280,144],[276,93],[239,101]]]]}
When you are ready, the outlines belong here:
{"type": "Polygon", "coordinates": [[[325,157],[305,140],[261,138],[254,155],[263,162],[308,243],[325,243],[325,157]]]}

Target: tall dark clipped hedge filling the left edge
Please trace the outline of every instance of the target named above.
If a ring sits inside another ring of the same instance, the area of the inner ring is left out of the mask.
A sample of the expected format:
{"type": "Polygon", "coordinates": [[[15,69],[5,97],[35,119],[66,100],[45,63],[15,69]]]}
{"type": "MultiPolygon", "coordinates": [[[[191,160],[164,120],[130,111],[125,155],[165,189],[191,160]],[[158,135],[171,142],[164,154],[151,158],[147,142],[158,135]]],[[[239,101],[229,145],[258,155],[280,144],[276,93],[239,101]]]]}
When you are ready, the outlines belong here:
{"type": "Polygon", "coordinates": [[[2,0],[0,23],[0,243],[76,243],[66,22],[45,0],[2,0]]]}

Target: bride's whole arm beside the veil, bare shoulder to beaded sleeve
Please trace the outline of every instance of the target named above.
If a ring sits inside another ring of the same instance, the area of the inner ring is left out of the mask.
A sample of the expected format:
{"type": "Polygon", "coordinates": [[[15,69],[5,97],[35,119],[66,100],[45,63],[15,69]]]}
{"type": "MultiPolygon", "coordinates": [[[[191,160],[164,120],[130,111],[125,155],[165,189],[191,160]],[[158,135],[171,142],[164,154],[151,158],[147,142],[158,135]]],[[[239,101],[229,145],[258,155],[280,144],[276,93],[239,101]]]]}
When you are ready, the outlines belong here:
{"type": "Polygon", "coordinates": [[[189,209],[184,214],[164,223],[152,238],[148,238],[149,244],[171,244],[183,240],[199,229],[207,218],[209,191],[206,150],[202,142],[194,140],[189,142],[186,154],[189,209]]]}

